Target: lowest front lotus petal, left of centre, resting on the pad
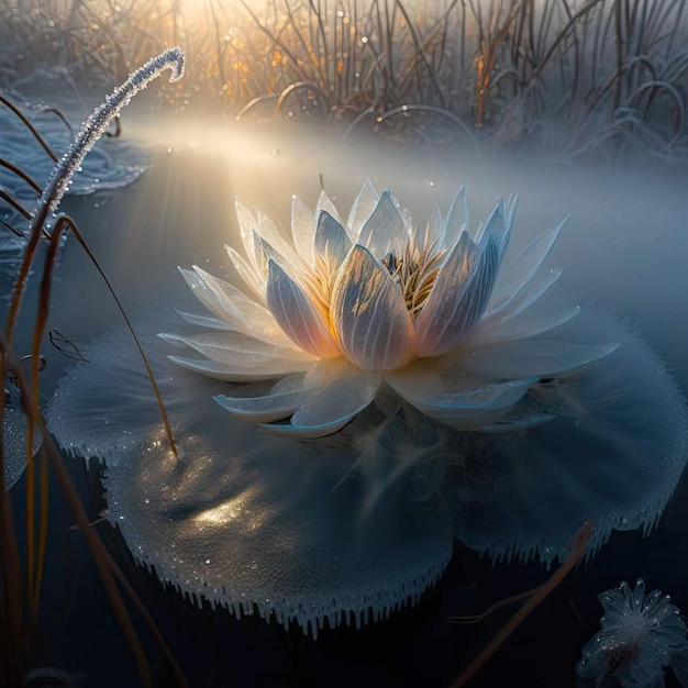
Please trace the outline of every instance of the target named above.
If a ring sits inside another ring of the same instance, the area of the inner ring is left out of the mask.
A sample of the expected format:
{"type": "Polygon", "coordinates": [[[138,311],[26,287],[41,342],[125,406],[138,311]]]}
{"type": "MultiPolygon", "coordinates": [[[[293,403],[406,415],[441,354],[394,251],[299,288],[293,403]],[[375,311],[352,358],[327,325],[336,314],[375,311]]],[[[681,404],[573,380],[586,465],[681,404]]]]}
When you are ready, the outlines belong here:
{"type": "Polygon", "coordinates": [[[337,432],[375,399],[381,377],[357,373],[340,377],[311,396],[291,417],[291,422],[264,425],[270,434],[324,437],[337,432]]]}

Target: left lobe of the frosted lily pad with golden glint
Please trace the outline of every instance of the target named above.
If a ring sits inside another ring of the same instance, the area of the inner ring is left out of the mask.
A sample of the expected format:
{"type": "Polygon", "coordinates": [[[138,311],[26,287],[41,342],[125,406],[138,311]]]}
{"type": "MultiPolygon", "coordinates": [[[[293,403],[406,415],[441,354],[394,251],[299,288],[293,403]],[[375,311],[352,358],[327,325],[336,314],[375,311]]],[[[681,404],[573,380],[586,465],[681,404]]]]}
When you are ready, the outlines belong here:
{"type": "Polygon", "coordinates": [[[74,454],[106,460],[109,518],[137,561],[184,593],[315,634],[414,601],[452,553],[450,522],[400,484],[371,510],[348,448],[260,435],[143,334],[180,458],[169,450],[138,354],[113,331],[85,349],[48,422],[74,454]],[[344,479],[342,479],[344,478],[344,479]]]}

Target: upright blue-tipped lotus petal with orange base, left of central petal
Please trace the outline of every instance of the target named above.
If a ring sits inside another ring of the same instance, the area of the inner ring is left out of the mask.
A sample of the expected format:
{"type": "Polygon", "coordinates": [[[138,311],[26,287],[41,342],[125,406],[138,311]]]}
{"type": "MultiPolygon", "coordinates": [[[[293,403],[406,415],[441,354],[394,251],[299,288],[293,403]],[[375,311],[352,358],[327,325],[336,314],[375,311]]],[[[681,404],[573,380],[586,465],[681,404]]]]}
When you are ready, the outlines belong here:
{"type": "Polygon", "coordinates": [[[303,289],[274,260],[268,262],[267,302],[287,336],[313,356],[341,354],[323,314],[303,289]]]}

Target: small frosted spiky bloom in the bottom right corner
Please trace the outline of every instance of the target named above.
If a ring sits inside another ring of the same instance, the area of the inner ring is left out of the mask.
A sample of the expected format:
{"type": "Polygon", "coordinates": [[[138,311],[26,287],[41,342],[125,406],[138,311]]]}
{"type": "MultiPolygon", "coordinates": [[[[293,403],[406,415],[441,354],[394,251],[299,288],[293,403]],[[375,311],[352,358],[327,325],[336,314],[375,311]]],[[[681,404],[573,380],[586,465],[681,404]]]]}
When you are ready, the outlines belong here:
{"type": "Polygon", "coordinates": [[[596,686],[607,685],[602,681],[608,677],[623,688],[664,686],[664,667],[688,650],[678,607],[662,590],[645,596],[642,579],[633,590],[624,580],[599,599],[604,608],[602,628],[584,646],[578,675],[593,679],[596,686]]]}

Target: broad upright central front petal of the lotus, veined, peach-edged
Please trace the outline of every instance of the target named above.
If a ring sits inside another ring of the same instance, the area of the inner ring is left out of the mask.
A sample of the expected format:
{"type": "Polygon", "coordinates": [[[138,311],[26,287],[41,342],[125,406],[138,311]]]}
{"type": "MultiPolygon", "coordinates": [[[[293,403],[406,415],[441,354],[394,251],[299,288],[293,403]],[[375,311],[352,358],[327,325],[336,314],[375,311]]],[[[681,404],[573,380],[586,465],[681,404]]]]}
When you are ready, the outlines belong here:
{"type": "Polygon", "coordinates": [[[332,325],[344,355],[359,368],[389,370],[408,363],[413,323],[381,263],[356,244],[332,289],[332,325]]]}

